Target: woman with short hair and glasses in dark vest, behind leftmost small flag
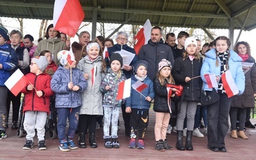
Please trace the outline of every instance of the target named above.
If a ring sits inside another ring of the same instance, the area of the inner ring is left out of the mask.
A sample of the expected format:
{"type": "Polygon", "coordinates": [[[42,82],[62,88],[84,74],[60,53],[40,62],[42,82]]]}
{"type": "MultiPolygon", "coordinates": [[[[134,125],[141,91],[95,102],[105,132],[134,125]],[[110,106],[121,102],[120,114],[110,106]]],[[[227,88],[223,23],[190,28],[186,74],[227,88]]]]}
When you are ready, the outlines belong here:
{"type": "MultiPolygon", "coordinates": [[[[18,67],[23,74],[28,74],[29,70],[29,53],[25,45],[22,42],[22,34],[20,31],[12,30],[10,33],[10,40],[12,48],[15,50],[18,56],[18,67]]],[[[7,108],[7,118],[6,123],[8,123],[10,105],[12,102],[12,129],[18,129],[18,119],[19,119],[19,108],[20,108],[20,97],[21,92],[15,96],[10,90],[8,90],[6,108],[7,108]]]]}

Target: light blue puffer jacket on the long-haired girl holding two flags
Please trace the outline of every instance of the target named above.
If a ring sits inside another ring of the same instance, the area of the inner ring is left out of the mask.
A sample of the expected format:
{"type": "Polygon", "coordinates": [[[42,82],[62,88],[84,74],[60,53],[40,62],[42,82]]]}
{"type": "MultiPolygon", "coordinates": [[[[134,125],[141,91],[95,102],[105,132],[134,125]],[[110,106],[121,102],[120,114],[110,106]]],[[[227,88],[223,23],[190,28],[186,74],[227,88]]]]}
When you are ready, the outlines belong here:
{"type": "MultiPolygon", "coordinates": [[[[201,69],[201,77],[202,80],[204,81],[203,84],[203,90],[212,90],[212,88],[209,88],[204,75],[205,74],[209,74],[209,73],[214,73],[215,76],[221,76],[220,75],[220,65],[218,67],[216,67],[216,53],[215,53],[215,49],[211,49],[210,51],[206,52],[205,55],[205,59],[204,59],[204,63],[202,65],[202,69],[201,69]]],[[[228,69],[230,70],[232,77],[236,83],[236,86],[239,90],[238,95],[241,95],[244,92],[244,72],[243,72],[243,68],[241,65],[241,61],[242,58],[238,56],[238,54],[232,50],[229,51],[230,52],[230,57],[228,58],[228,69]]],[[[220,58],[218,57],[218,61],[220,64],[220,58]]],[[[218,88],[215,88],[216,90],[218,90],[218,88]]]]}

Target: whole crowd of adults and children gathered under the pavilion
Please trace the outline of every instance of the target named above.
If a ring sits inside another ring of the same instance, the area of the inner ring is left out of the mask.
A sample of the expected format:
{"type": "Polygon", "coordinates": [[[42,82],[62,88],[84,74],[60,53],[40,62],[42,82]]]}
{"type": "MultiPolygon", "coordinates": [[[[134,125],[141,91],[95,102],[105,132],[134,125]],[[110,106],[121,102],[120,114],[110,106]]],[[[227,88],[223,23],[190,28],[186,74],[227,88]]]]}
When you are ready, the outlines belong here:
{"type": "Polygon", "coordinates": [[[247,140],[244,127],[255,128],[250,122],[250,110],[255,104],[256,68],[247,42],[238,42],[232,51],[230,40],[219,36],[201,47],[200,40],[185,31],[180,31],[177,39],[174,33],[168,33],[164,42],[163,30],[155,26],[148,44],[137,53],[127,45],[128,35],[123,31],[116,34],[116,44],[103,36],[90,38],[88,31],[82,31],[79,42],[70,44],[70,38],[50,24],[44,38],[35,45],[33,36],[23,37],[17,30],[9,34],[6,28],[0,27],[0,140],[7,137],[11,102],[11,128],[18,129],[22,93],[27,133],[23,149],[34,146],[35,133],[39,150],[47,148],[44,135],[50,102],[58,113],[61,151],[86,148],[86,134],[89,134],[90,147],[97,148],[97,124],[103,127],[104,147],[119,148],[120,110],[125,136],[131,138],[128,147],[144,149],[151,104],[156,112],[155,148],[159,151],[173,149],[166,134],[177,132],[177,150],[193,150],[192,136],[207,135],[209,150],[227,152],[228,116],[231,138],[247,140]],[[108,47],[106,57],[102,54],[104,47],[108,47]],[[121,50],[134,54],[129,65],[124,64],[121,50]],[[73,53],[74,60],[71,60],[73,53]],[[244,72],[241,62],[250,63],[252,67],[244,72]],[[28,84],[15,96],[4,83],[17,69],[26,76],[28,84]],[[228,97],[221,79],[227,70],[238,90],[233,97],[228,97]],[[215,75],[214,81],[218,83],[215,90],[205,79],[206,74],[215,75]],[[131,95],[116,99],[118,86],[125,79],[131,79],[131,95]],[[138,84],[145,84],[145,88],[137,90],[134,86],[138,84]],[[179,90],[168,87],[169,84],[182,86],[182,92],[179,94],[179,90]],[[202,106],[200,95],[204,91],[216,92],[220,99],[202,106]],[[79,132],[78,145],[73,141],[76,132],[79,132]]]}

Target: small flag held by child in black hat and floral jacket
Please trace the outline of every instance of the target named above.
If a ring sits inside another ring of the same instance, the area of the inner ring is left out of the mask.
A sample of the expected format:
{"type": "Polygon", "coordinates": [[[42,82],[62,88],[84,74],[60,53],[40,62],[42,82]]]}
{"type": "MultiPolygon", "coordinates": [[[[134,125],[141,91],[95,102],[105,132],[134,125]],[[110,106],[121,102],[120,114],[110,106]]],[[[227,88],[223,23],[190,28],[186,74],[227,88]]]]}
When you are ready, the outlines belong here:
{"type": "Polygon", "coordinates": [[[119,83],[116,100],[125,99],[131,95],[131,78],[119,83]]]}

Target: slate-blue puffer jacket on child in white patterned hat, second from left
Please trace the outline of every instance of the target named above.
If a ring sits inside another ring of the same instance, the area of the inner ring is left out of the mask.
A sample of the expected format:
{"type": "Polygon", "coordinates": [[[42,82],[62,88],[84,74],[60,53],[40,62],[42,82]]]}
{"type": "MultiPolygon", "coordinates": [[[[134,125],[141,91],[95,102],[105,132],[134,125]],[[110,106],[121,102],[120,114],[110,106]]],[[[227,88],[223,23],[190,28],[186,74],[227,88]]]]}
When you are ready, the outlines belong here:
{"type": "Polygon", "coordinates": [[[56,108],[77,108],[82,105],[82,92],[87,87],[87,81],[78,68],[72,68],[72,83],[79,86],[76,92],[68,89],[70,83],[70,70],[58,67],[51,80],[51,89],[56,93],[56,108]]]}

